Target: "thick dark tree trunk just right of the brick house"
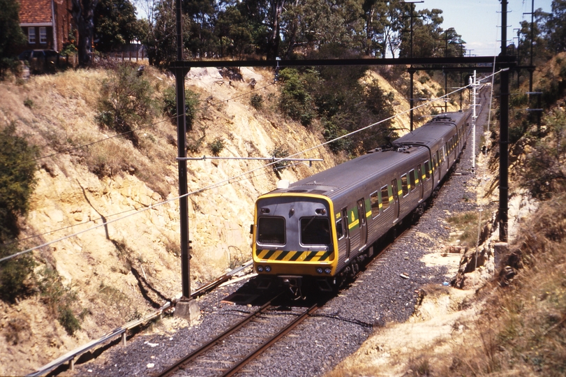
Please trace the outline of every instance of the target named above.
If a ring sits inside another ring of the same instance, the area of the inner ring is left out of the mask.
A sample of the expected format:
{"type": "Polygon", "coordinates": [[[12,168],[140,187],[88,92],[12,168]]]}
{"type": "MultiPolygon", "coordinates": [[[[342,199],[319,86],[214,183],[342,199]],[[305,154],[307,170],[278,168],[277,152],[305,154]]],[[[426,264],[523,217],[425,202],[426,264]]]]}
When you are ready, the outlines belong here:
{"type": "Polygon", "coordinates": [[[98,0],[72,0],[70,13],[77,24],[79,45],[77,56],[80,66],[88,66],[92,61],[92,44],[94,38],[94,9],[98,0]]]}

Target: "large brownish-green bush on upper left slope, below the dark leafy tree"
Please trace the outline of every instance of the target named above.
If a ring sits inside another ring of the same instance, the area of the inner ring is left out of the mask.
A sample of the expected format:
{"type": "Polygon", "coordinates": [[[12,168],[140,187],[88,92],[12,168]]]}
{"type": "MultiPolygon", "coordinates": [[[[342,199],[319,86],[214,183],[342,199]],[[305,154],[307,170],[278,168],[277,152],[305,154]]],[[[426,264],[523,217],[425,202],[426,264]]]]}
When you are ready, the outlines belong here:
{"type": "Polygon", "coordinates": [[[105,79],[98,98],[100,126],[123,133],[137,147],[135,128],[147,124],[154,117],[153,89],[149,81],[137,74],[131,66],[118,66],[105,79]]]}

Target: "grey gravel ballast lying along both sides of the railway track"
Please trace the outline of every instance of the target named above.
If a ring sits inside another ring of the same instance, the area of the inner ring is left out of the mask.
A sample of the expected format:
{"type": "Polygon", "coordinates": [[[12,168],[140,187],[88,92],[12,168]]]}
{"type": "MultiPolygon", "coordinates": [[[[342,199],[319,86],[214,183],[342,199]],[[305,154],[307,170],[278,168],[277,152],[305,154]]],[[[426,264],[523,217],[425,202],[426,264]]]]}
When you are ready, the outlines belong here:
{"type": "MultiPolygon", "coordinates": [[[[482,112],[478,124],[484,124],[486,112],[482,112]]],[[[476,140],[479,140],[482,131],[482,127],[477,127],[476,140]]],[[[445,183],[438,198],[427,209],[419,223],[399,237],[392,247],[381,253],[368,265],[366,271],[357,276],[354,283],[341,290],[290,335],[248,364],[240,375],[303,377],[324,374],[357,350],[376,327],[407,320],[414,311],[419,288],[430,283],[442,284],[445,281],[446,267],[427,267],[420,260],[427,253],[440,251],[438,241],[449,237],[449,230],[443,223],[448,216],[447,212],[477,209],[474,190],[466,191],[468,186],[475,185],[476,182],[471,171],[471,136],[468,135],[468,147],[456,166],[456,173],[459,174],[452,175],[445,183]],[[427,237],[423,237],[423,234],[427,237]],[[405,279],[406,277],[408,279],[405,279]]],[[[75,365],[75,374],[149,376],[158,373],[256,309],[255,306],[221,302],[241,285],[242,283],[239,283],[218,288],[201,297],[198,300],[202,312],[199,325],[184,327],[167,334],[139,334],[128,341],[125,347],[113,346],[97,359],[75,365]]],[[[289,318],[290,313],[300,310],[292,308],[292,312],[281,311],[273,313],[273,316],[279,319],[285,316],[289,318]]],[[[243,343],[244,340],[241,341],[241,344],[243,343]]],[[[220,353],[220,358],[225,360],[234,353],[246,353],[243,349],[230,348],[215,352],[220,353]]],[[[214,367],[218,370],[195,368],[185,370],[184,374],[179,376],[219,375],[219,369],[228,367],[228,364],[216,362],[214,367]]]]}

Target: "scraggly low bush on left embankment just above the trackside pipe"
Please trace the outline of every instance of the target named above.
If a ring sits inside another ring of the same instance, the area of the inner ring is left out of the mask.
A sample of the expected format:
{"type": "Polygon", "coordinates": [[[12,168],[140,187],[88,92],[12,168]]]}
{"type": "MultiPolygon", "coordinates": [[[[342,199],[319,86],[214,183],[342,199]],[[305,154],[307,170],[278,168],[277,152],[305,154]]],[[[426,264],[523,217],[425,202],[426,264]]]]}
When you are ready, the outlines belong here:
{"type": "Polygon", "coordinates": [[[64,286],[56,269],[45,267],[40,272],[40,276],[38,287],[43,302],[67,334],[75,334],[81,328],[72,308],[77,301],[77,294],[71,288],[64,286]]]}

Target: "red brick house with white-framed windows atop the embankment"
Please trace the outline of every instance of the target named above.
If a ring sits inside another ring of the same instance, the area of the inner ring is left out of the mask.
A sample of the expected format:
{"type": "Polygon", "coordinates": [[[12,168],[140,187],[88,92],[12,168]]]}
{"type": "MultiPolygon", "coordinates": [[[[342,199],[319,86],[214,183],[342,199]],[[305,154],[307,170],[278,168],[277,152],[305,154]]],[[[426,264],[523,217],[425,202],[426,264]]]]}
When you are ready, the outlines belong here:
{"type": "Polygon", "coordinates": [[[27,36],[22,50],[61,50],[75,25],[71,7],[72,0],[20,0],[20,26],[27,36]]]}

